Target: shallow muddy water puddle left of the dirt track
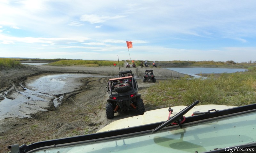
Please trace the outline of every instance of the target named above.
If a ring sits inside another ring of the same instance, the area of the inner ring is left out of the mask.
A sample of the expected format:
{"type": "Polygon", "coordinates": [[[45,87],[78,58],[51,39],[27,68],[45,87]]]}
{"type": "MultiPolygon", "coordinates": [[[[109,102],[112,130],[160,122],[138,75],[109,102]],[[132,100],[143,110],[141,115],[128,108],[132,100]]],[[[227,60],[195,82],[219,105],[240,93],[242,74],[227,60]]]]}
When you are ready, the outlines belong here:
{"type": "Polygon", "coordinates": [[[79,90],[84,77],[96,77],[91,74],[55,74],[29,77],[23,91],[12,92],[14,87],[3,93],[0,101],[0,119],[11,117],[29,117],[38,111],[46,111],[50,104],[57,108],[63,94],[79,90]],[[80,79],[81,78],[81,79],[80,79]],[[8,98],[6,97],[6,93],[8,98]]]}

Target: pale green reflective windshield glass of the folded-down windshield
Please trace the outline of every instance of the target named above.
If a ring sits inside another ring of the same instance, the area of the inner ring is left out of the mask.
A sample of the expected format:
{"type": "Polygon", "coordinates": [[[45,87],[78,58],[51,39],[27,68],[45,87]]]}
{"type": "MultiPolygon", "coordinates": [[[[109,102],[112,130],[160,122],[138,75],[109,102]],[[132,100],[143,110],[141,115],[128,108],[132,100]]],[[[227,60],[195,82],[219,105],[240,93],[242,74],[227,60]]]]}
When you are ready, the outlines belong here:
{"type": "Polygon", "coordinates": [[[79,145],[42,149],[37,152],[205,152],[255,142],[256,112],[79,145]]]}

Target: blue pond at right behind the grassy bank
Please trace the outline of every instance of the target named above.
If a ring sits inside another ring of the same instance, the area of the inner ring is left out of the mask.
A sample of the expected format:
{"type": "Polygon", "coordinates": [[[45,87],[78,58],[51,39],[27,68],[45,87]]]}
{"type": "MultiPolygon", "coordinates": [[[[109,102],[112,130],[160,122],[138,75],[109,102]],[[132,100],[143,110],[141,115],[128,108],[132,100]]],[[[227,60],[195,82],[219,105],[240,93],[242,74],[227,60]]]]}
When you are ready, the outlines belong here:
{"type": "Polygon", "coordinates": [[[247,69],[230,69],[230,68],[166,68],[183,74],[187,74],[194,77],[200,77],[196,74],[200,73],[235,73],[235,72],[244,72],[247,69]]]}

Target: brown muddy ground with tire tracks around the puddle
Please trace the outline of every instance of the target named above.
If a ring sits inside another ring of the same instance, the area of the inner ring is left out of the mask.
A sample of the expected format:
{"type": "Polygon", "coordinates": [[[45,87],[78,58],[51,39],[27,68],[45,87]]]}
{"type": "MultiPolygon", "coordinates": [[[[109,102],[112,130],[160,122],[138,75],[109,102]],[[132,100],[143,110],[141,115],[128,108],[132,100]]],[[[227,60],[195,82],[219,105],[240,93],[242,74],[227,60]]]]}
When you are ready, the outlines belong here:
{"type": "MultiPolygon", "coordinates": [[[[121,71],[132,68],[120,68],[121,71]]],[[[137,78],[139,93],[147,92],[147,88],[154,83],[143,83],[142,77],[146,68],[133,68],[137,78]]],[[[152,68],[147,68],[152,69],[152,68]]],[[[167,78],[184,77],[175,71],[154,68],[156,83],[167,78]]],[[[95,74],[100,77],[84,77],[79,80],[84,85],[75,91],[62,95],[64,98],[58,109],[49,103],[44,107],[46,111],[29,114],[25,118],[5,118],[0,120],[0,152],[9,152],[7,146],[12,144],[31,144],[34,142],[51,140],[56,138],[85,135],[97,132],[114,120],[138,115],[136,111],[129,113],[116,113],[114,119],[107,119],[105,104],[108,98],[106,85],[108,79],[116,77],[118,67],[84,67],[70,66],[57,67],[47,65],[24,65],[19,68],[0,69],[0,100],[8,98],[10,89],[12,92],[24,90],[28,77],[44,76],[59,73],[95,74]]],[[[15,97],[11,97],[15,98],[15,97]]],[[[0,101],[1,102],[1,101],[0,101]]],[[[146,102],[144,102],[146,103],[146,102]]],[[[29,108],[29,107],[28,107],[29,108]]],[[[22,109],[22,108],[21,108],[22,109]]],[[[27,108],[26,108],[27,109],[27,108]]],[[[150,104],[145,105],[146,111],[154,109],[150,104]]]]}

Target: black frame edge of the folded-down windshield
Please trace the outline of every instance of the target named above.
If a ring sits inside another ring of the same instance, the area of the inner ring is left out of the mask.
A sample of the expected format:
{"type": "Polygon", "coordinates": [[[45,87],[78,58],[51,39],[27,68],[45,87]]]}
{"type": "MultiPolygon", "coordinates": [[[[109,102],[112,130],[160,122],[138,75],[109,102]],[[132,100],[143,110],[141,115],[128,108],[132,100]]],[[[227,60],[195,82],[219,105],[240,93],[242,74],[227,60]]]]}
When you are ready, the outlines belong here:
{"type": "MultiPolygon", "coordinates": [[[[246,106],[239,106],[239,107],[233,107],[225,110],[220,110],[218,112],[211,112],[208,114],[189,116],[189,117],[186,117],[186,120],[183,123],[183,126],[186,127],[188,125],[203,123],[209,120],[216,120],[219,118],[225,118],[229,116],[235,116],[235,115],[255,112],[255,111],[256,111],[256,104],[250,104],[246,106]]],[[[117,130],[112,130],[107,132],[99,132],[99,133],[94,133],[89,135],[80,135],[80,136],[74,136],[74,137],[68,137],[68,138],[60,138],[60,139],[36,142],[28,146],[26,145],[20,146],[20,153],[30,152],[31,150],[35,151],[35,149],[39,149],[39,148],[42,149],[42,147],[51,148],[53,146],[65,146],[65,145],[72,145],[72,144],[79,144],[79,143],[88,143],[88,142],[115,139],[119,137],[130,136],[130,135],[152,133],[152,130],[162,123],[164,122],[157,122],[157,123],[124,128],[124,129],[117,129],[117,130]]],[[[163,128],[163,130],[166,128],[175,129],[180,127],[178,125],[171,125],[163,128]]]]}

